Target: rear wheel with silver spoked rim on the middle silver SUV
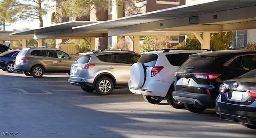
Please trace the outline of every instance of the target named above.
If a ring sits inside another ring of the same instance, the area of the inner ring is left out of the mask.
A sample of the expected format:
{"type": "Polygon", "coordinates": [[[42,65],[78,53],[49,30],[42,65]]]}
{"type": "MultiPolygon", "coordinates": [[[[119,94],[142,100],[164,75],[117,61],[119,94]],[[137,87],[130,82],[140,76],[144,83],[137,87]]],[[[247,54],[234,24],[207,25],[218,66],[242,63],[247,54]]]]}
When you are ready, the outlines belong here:
{"type": "Polygon", "coordinates": [[[109,77],[101,77],[96,80],[94,89],[99,95],[108,95],[113,91],[114,84],[109,77]]]}

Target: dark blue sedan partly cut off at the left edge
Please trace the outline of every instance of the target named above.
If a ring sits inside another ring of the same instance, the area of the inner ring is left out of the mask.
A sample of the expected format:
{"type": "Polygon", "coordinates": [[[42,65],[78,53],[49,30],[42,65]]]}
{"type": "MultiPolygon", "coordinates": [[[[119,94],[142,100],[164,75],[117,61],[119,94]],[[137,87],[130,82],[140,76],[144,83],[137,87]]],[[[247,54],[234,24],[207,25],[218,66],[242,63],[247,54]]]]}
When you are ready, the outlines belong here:
{"type": "Polygon", "coordinates": [[[4,71],[14,72],[14,62],[20,50],[9,50],[0,54],[0,68],[4,71]]]}

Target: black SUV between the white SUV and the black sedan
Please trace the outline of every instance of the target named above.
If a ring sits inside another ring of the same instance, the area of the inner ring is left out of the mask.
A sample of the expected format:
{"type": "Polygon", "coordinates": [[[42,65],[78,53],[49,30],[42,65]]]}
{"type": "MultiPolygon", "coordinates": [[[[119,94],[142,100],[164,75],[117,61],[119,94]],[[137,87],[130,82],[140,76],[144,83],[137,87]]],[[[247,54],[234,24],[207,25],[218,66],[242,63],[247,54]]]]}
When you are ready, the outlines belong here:
{"type": "Polygon", "coordinates": [[[249,72],[256,68],[255,62],[255,50],[192,54],[176,71],[173,98],[193,113],[215,107],[223,80],[249,72]]]}

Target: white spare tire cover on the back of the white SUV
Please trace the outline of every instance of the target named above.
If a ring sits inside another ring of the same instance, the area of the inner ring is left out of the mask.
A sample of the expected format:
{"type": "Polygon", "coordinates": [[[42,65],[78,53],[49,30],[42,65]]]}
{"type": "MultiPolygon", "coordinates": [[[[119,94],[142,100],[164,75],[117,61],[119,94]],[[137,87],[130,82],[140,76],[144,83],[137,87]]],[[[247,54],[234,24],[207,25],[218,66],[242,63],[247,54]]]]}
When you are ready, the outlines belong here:
{"type": "Polygon", "coordinates": [[[130,79],[132,87],[140,88],[144,85],[146,80],[146,67],[143,63],[137,62],[132,64],[130,70],[130,79]]]}

